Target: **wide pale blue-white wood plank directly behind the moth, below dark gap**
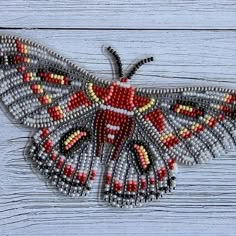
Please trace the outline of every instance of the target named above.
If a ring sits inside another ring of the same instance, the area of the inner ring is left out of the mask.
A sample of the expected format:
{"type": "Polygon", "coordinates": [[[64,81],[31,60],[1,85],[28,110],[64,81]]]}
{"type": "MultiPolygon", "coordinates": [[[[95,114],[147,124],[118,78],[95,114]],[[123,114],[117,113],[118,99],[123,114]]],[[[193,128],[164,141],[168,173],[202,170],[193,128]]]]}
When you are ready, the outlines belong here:
{"type": "MultiPolygon", "coordinates": [[[[236,89],[236,32],[14,32],[38,39],[105,79],[111,78],[111,66],[101,45],[111,44],[125,65],[146,55],[157,58],[133,78],[137,86],[225,81],[222,86],[236,89]]],[[[0,121],[1,235],[235,235],[236,152],[196,168],[180,167],[177,189],[158,202],[113,209],[98,197],[98,183],[87,199],[57,194],[25,160],[27,139],[21,137],[29,130],[16,127],[3,110],[0,121]]]]}

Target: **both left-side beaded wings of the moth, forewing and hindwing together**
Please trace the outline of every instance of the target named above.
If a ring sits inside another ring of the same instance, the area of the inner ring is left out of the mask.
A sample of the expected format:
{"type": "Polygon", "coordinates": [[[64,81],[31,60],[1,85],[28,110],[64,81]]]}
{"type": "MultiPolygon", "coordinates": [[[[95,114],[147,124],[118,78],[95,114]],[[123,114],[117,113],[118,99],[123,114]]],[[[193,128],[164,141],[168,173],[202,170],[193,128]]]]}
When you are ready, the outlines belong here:
{"type": "Polygon", "coordinates": [[[96,175],[93,120],[109,82],[50,49],[0,35],[0,96],[19,122],[39,128],[30,157],[60,191],[83,195],[96,175]]]}

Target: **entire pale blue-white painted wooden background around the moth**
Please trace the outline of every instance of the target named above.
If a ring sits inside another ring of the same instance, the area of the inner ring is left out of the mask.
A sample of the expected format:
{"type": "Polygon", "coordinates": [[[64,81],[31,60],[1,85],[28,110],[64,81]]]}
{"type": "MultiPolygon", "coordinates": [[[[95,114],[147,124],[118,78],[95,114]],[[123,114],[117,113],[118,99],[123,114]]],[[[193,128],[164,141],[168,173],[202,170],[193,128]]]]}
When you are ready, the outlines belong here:
{"type": "MultiPolygon", "coordinates": [[[[111,79],[102,46],[126,66],[146,55],[133,84],[236,89],[235,1],[1,1],[2,33],[29,37],[111,79]],[[161,30],[160,30],[161,29],[161,30]],[[201,29],[201,30],[199,30],[201,29]]],[[[235,235],[236,152],[179,167],[177,189],[143,208],[108,207],[97,181],[86,199],[58,195],[24,155],[30,130],[0,111],[0,235],[235,235]]]]}

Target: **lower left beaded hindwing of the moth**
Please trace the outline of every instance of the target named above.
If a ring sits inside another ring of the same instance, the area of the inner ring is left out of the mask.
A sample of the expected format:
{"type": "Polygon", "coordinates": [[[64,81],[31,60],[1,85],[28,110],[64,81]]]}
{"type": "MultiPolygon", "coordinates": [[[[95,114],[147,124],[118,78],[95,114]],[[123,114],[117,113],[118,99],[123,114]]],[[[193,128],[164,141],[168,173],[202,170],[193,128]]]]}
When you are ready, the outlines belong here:
{"type": "Polygon", "coordinates": [[[88,194],[100,161],[93,129],[96,110],[85,109],[79,118],[37,131],[29,151],[35,167],[70,196],[88,194]]]}

